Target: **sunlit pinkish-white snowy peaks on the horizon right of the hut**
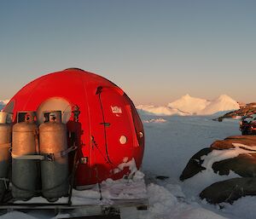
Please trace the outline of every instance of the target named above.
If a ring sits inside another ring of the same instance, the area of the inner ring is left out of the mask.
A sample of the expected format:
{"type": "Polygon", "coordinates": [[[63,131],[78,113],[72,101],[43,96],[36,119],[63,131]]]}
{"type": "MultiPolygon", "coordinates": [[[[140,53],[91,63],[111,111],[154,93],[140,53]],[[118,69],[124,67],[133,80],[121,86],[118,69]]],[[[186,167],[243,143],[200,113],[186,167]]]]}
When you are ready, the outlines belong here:
{"type": "Polygon", "coordinates": [[[183,95],[177,101],[173,101],[163,107],[155,107],[153,105],[137,106],[140,112],[166,116],[212,115],[218,112],[234,111],[239,108],[239,104],[228,95],[220,95],[212,101],[183,95]]]}

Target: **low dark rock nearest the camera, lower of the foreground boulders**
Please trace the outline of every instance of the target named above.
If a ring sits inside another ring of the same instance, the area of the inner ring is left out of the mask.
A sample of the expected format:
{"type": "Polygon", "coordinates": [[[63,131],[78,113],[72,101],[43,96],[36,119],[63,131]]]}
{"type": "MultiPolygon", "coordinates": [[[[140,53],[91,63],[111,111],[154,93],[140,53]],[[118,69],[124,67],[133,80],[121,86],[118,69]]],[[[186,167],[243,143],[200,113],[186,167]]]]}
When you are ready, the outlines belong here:
{"type": "Polygon", "coordinates": [[[215,182],[205,188],[201,193],[201,199],[207,199],[211,204],[228,202],[232,204],[236,199],[246,195],[256,195],[256,178],[233,178],[223,182],[215,182]]]}

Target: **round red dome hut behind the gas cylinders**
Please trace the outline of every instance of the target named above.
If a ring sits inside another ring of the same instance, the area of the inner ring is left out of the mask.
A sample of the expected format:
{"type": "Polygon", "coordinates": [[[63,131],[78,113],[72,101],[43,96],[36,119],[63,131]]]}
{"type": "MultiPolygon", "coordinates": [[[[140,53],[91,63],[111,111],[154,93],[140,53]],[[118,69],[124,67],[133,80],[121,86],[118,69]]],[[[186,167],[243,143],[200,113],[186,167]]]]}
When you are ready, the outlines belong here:
{"type": "Polygon", "coordinates": [[[76,187],[140,168],[143,124],[130,98],[108,79],[77,68],[50,73],[20,89],[3,109],[14,114],[14,123],[17,112],[35,111],[38,124],[49,110],[61,110],[68,146],[78,147],[76,187]]]}

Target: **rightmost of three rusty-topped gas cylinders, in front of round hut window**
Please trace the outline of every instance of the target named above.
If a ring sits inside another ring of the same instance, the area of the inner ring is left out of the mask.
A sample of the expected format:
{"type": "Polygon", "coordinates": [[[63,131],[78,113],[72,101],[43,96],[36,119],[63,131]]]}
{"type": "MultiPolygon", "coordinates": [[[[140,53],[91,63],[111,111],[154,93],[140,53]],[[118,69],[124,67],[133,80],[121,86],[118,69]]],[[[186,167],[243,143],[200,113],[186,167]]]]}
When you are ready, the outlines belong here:
{"type": "Polygon", "coordinates": [[[67,195],[68,158],[67,126],[61,123],[61,111],[44,112],[44,123],[39,126],[42,193],[44,198],[55,201],[67,195]]]}

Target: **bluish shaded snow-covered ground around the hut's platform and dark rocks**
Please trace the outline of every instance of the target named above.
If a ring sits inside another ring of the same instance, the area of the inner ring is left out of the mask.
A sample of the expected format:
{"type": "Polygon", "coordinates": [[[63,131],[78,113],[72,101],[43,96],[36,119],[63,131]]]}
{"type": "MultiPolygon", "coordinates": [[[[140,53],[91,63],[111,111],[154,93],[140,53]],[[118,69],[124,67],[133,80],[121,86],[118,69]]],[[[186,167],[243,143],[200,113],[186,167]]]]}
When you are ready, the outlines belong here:
{"type": "MultiPolygon", "coordinates": [[[[122,219],[255,218],[256,197],[238,199],[233,205],[209,205],[205,200],[199,198],[199,193],[203,188],[213,182],[235,177],[235,173],[231,173],[230,176],[218,176],[211,170],[205,170],[189,180],[179,181],[179,176],[189,158],[201,148],[209,147],[213,141],[240,134],[238,120],[224,119],[224,122],[219,123],[212,121],[213,116],[157,116],[145,113],[141,114],[141,118],[146,136],[141,170],[143,173],[141,171],[136,173],[135,183],[128,182],[130,190],[123,190],[121,182],[117,184],[113,181],[102,183],[102,189],[107,189],[105,192],[103,191],[103,195],[105,195],[103,200],[105,201],[117,190],[121,191],[121,198],[128,194],[131,195],[131,192],[140,197],[143,197],[145,193],[148,194],[148,210],[140,211],[138,216],[135,216],[130,210],[126,210],[126,212],[123,210],[121,211],[122,219]],[[142,183],[143,174],[147,187],[139,186],[142,183]],[[168,176],[168,178],[160,180],[156,176],[168,176]]],[[[221,154],[221,156],[225,155],[221,154]]],[[[216,156],[212,158],[214,159],[216,156]]],[[[206,162],[211,164],[211,157],[206,159],[206,162]]],[[[86,196],[98,197],[97,187],[84,193],[74,193],[74,200],[81,201],[80,198],[84,199],[86,196]]],[[[83,214],[83,210],[65,212],[65,214],[57,216],[54,216],[52,211],[31,210],[26,213],[9,212],[0,218],[64,218],[79,216],[79,214],[83,214]]]]}

